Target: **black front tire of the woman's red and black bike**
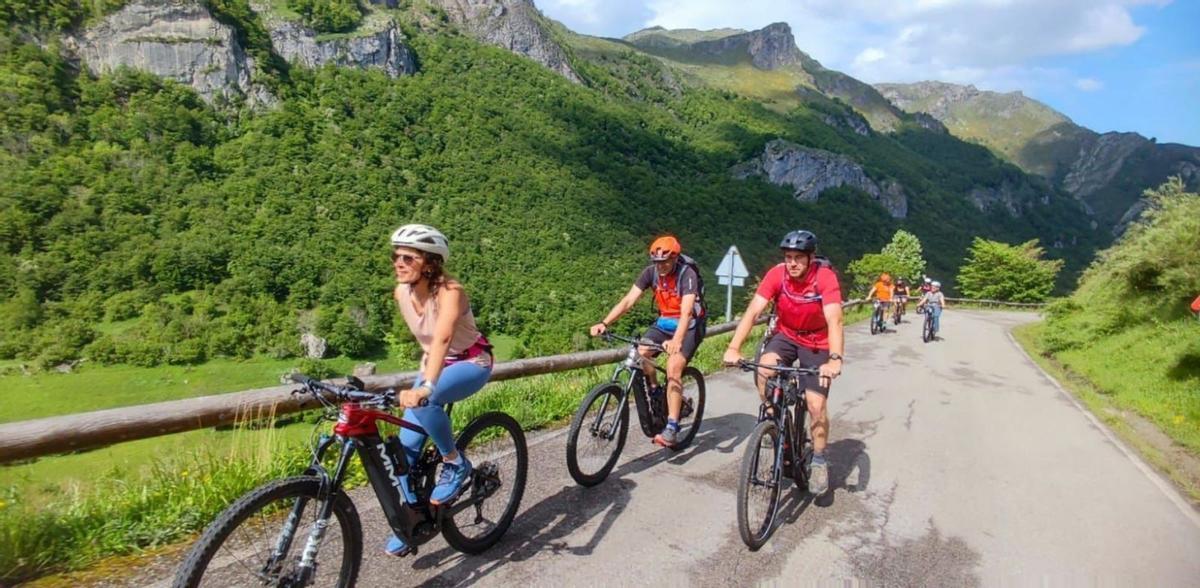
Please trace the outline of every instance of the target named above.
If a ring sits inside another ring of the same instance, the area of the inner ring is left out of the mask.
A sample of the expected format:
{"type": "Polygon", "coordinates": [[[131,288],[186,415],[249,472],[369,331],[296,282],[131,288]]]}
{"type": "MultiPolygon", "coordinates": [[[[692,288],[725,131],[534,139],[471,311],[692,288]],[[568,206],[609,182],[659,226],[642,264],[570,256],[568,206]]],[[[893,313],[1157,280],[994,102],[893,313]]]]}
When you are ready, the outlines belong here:
{"type": "MultiPolygon", "coordinates": [[[[206,529],[204,529],[200,539],[196,541],[196,545],[192,546],[187,557],[184,559],[184,563],[180,565],[173,586],[175,588],[199,587],[206,572],[228,571],[233,566],[218,568],[214,570],[210,570],[209,566],[212,564],[214,558],[224,546],[226,541],[229,540],[234,535],[234,532],[236,532],[244,523],[247,523],[251,516],[262,511],[276,500],[307,498],[311,500],[313,506],[319,506],[320,487],[320,478],[305,475],[274,480],[242,494],[241,498],[236,499],[226,510],[217,515],[217,518],[212,521],[206,529]]],[[[358,581],[359,568],[362,564],[362,522],[359,518],[358,510],[354,508],[354,503],[348,496],[346,496],[346,493],[337,491],[330,497],[330,499],[332,500],[331,515],[337,520],[338,529],[341,530],[343,556],[342,565],[337,574],[337,581],[332,586],[336,586],[337,588],[349,588],[358,581]]],[[[264,514],[264,516],[266,514],[264,514]]],[[[284,526],[287,526],[286,522],[284,526]]],[[[298,533],[293,538],[292,550],[289,550],[289,553],[302,550],[304,541],[299,541],[301,539],[305,539],[302,533],[298,533]]],[[[328,541],[329,538],[326,536],[325,539],[328,541]]],[[[268,538],[268,541],[270,541],[270,538],[268,538]]],[[[328,545],[324,546],[328,547],[328,545]]],[[[271,550],[268,550],[268,552],[270,551],[271,550]]],[[[236,557],[236,552],[229,553],[229,556],[236,557]]],[[[287,559],[294,558],[289,557],[287,559]]],[[[287,562],[287,559],[284,562],[287,562]]],[[[263,582],[262,576],[254,574],[253,570],[247,568],[245,571],[248,571],[251,577],[258,583],[263,582]]],[[[317,578],[311,578],[310,584],[316,583],[316,580],[317,578]]],[[[246,581],[238,582],[235,580],[223,577],[216,578],[214,582],[217,586],[245,586],[247,583],[246,581]]]]}

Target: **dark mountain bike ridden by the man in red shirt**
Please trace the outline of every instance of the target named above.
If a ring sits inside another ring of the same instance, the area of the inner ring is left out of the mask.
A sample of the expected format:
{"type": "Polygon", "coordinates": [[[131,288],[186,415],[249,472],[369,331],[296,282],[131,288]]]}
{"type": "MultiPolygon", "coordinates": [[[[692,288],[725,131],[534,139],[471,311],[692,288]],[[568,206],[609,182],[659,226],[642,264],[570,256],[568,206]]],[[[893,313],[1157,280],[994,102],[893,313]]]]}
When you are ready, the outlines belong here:
{"type": "Polygon", "coordinates": [[[784,476],[794,480],[802,491],[808,490],[812,437],[805,426],[809,408],[802,377],[817,376],[820,368],[756,361],[739,361],[738,367],[748,372],[760,367],[775,371],[767,380],[768,401],[758,407],[758,425],[750,433],[738,479],[738,533],[755,551],[774,532],[784,476]],[[794,407],[793,412],[787,407],[794,407]]]}

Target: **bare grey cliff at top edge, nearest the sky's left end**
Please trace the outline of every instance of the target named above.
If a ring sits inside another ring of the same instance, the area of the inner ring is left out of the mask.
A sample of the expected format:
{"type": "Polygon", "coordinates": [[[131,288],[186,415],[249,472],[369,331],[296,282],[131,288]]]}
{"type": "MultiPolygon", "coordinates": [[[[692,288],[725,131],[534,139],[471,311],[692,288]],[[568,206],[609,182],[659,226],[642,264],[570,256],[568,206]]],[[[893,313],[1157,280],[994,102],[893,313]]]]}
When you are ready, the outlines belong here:
{"type": "Polygon", "coordinates": [[[431,0],[463,31],[503,47],[581,83],[566,52],[554,40],[546,18],[530,0],[431,0]]]}

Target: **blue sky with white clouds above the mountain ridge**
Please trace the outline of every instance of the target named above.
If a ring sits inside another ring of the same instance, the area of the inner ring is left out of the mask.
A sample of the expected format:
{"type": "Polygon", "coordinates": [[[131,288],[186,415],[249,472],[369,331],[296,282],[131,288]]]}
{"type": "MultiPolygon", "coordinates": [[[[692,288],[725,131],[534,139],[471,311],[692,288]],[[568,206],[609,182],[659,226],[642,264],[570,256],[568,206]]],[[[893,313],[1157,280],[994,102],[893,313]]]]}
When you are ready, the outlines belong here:
{"type": "Polygon", "coordinates": [[[589,35],[791,24],[864,82],[1021,90],[1088,128],[1200,145],[1200,0],[535,0],[589,35]]]}

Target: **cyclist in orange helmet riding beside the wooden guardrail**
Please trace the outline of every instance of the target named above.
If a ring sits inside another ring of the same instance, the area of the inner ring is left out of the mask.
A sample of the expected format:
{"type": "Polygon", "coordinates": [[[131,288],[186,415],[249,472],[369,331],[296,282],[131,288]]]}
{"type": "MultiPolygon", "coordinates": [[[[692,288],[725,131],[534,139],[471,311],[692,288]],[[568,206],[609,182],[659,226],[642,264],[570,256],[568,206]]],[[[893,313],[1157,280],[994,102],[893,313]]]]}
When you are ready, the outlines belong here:
{"type": "MultiPolygon", "coordinates": [[[[604,320],[592,325],[592,336],[600,336],[608,330],[611,324],[637,304],[643,292],[654,290],[659,318],[643,337],[661,344],[667,352],[667,426],[654,437],[654,443],[671,448],[679,433],[679,413],[683,410],[683,370],[704,340],[708,317],[704,316],[700,270],[691,258],[682,254],[678,239],[655,239],[650,244],[650,262],[604,320]]],[[[640,352],[647,360],[653,360],[659,354],[648,347],[642,347],[640,352]]],[[[652,395],[662,394],[654,364],[643,362],[642,371],[646,373],[648,391],[652,395]]]]}

